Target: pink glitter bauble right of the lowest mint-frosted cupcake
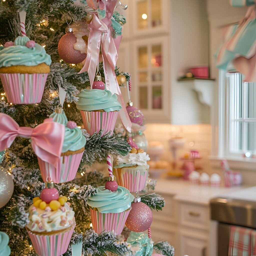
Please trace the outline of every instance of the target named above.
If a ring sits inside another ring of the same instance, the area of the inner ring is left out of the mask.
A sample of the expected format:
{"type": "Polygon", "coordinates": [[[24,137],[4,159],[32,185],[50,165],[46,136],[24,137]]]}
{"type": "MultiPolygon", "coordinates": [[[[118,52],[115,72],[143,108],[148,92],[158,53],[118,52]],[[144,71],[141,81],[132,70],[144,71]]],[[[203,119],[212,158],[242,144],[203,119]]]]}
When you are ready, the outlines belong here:
{"type": "Polygon", "coordinates": [[[132,209],[125,222],[127,228],[134,232],[147,230],[152,223],[152,211],[143,202],[133,202],[132,209]]]}

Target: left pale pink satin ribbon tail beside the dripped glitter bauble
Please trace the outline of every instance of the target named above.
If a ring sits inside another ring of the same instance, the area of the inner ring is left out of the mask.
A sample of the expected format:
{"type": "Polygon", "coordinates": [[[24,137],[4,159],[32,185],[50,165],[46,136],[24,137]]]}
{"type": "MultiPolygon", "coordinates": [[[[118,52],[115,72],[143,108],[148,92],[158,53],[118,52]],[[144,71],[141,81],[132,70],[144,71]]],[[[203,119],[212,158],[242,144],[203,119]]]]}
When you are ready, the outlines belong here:
{"type": "Polygon", "coordinates": [[[80,70],[79,74],[88,71],[91,89],[92,83],[95,78],[96,68],[99,61],[100,55],[100,42],[102,37],[102,32],[107,32],[108,27],[102,22],[97,14],[93,14],[93,18],[91,23],[88,25],[88,29],[90,31],[89,39],[88,39],[88,51],[87,57],[84,63],[83,68],[80,70]]]}

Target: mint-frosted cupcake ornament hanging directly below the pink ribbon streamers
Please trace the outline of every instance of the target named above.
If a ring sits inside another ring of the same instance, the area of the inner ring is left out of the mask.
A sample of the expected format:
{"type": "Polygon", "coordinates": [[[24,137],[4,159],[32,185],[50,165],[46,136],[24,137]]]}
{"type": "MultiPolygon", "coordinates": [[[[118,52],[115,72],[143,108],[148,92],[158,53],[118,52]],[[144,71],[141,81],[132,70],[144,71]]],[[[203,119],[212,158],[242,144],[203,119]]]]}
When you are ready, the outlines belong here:
{"type": "Polygon", "coordinates": [[[92,89],[83,89],[78,94],[77,109],[80,110],[84,128],[92,135],[104,130],[113,134],[118,112],[122,108],[115,94],[105,89],[101,76],[96,75],[92,89]]]}

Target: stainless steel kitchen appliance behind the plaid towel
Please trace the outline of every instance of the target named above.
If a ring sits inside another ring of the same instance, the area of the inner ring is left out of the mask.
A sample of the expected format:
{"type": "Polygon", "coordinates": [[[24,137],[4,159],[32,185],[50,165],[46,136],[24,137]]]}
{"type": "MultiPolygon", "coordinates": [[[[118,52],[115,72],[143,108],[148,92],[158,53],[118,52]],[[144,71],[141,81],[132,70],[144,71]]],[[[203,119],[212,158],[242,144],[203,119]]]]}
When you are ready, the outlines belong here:
{"type": "Polygon", "coordinates": [[[210,204],[211,219],[218,221],[218,256],[227,256],[231,225],[256,229],[256,201],[215,198],[210,204]]]}

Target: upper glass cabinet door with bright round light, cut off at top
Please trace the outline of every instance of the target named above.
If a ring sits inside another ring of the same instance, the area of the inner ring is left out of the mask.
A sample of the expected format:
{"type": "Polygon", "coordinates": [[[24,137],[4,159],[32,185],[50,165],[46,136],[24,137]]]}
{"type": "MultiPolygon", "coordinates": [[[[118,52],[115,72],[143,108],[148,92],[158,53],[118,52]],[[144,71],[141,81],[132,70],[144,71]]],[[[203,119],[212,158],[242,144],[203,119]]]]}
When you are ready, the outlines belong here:
{"type": "Polygon", "coordinates": [[[133,1],[134,26],[136,36],[168,32],[168,17],[163,10],[169,8],[168,0],[135,0],[133,1]]]}

